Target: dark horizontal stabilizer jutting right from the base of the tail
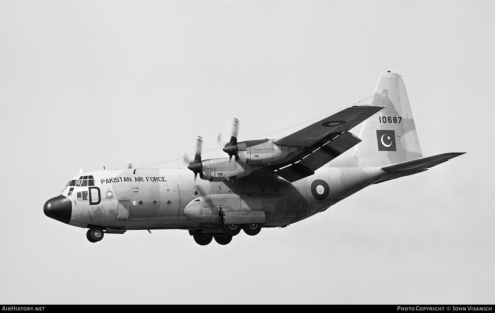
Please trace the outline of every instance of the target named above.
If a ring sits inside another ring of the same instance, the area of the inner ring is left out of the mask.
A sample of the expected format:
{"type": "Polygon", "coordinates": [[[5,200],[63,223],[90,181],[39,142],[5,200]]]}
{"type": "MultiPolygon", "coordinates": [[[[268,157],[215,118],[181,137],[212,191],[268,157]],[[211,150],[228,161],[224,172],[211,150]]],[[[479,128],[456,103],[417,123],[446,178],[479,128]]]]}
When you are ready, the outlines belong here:
{"type": "Polygon", "coordinates": [[[465,152],[447,152],[431,157],[421,157],[410,161],[383,166],[382,169],[388,172],[388,174],[379,181],[375,182],[375,184],[403,176],[409,176],[412,174],[424,172],[430,167],[441,164],[451,158],[458,157],[463,154],[465,154],[465,152]]]}

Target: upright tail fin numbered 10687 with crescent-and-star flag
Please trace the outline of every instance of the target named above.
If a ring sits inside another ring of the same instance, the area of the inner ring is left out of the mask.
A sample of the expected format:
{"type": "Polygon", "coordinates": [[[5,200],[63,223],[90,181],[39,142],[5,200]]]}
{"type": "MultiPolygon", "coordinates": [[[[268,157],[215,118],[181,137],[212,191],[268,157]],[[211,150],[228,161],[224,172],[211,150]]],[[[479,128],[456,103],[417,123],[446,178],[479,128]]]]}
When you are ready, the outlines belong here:
{"type": "Polygon", "coordinates": [[[384,166],[422,157],[404,82],[397,73],[380,75],[372,105],[383,106],[364,121],[354,148],[359,167],[384,166]]]}

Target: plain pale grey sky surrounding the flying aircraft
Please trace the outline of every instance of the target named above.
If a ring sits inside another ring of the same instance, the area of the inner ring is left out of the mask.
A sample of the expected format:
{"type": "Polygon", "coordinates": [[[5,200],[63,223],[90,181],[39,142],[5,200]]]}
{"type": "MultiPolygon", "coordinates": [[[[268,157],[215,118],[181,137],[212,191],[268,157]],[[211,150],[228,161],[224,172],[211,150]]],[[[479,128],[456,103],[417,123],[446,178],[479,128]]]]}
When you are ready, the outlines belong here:
{"type": "Polygon", "coordinates": [[[0,302],[493,304],[493,16],[493,1],[1,1],[0,302]],[[233,117],[240,140],[263,136],[372,96],[387,70],[423,154],[467,155],[228,246],[184,230],[92,244],[43,214],[79,168],[182,157],[196,135],[214,149],[233,117]]]}

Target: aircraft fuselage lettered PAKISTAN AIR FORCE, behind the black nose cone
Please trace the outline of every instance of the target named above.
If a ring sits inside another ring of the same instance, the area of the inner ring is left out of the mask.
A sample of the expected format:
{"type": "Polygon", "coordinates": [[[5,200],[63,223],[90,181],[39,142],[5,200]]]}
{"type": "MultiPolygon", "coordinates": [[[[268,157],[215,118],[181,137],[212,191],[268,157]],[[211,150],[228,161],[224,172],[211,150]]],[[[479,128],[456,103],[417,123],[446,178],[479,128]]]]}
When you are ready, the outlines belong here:
{"type": "Polygon", "coordinates": [[[385,172],[379,167],[322,167],[294,183],[272,172],[232,182],[195,181],[187,169],[99,170],[82,175],[93,176],[94,186],[67,186],[61,193],[72,205],[68,224],[131,230],[218,228],[218,218],[202,222],[185,214],[188,204],[206,195],[234,195],[244,209],[264,212],[263,227],[283,227],[328,209],[385,172]]]}

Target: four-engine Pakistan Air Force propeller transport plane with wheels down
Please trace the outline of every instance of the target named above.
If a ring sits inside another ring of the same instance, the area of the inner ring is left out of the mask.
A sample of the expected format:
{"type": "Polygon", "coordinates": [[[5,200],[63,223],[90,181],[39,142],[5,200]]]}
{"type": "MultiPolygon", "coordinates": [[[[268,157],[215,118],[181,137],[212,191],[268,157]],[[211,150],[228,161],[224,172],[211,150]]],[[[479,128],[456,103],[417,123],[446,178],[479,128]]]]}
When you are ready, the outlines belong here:
{"type": "Polygon", "coordinates": [[[44,206],[47,216],[104,233],[184,229],[199,245],[221,245],[243,230],[285,227],[371,185],[417,174],[463,152],[423,157],[402,78],[383,73],[370,105],[354,105],[276,139],[237,141],[228,157],[201,159],[188,169],[97,170],[71,179],[44,206]],[[359,137],[349,131],[364,122],[359,137]],[[347,157],[339,157],[354,148],[347,157]],[[191,171],[194,172],[191,173],[191,171]],[[197,179],[199,176],[199,179],[197,179]]]}

